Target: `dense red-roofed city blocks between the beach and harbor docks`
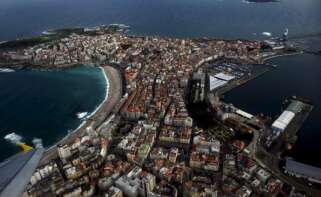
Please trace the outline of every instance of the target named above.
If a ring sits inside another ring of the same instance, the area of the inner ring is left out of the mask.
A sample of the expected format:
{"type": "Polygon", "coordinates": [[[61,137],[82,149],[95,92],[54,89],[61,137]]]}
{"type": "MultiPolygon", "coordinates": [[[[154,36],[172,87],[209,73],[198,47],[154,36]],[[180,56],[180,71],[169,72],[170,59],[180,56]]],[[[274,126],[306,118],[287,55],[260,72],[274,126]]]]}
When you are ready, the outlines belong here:
{"type": "Polygon", "coordinates": [[[285,196],[286,183],[256,161],[254,150],[197,128],[185,102],[189,79],[205,62],[232,59],[242,67],[258,63],[260,49],[256,41],[102,33],[2,53],[7,61],[53,68],[113,65],[125,78],[123,96],[121,88],[109,92],[107,100],[117,102],[45,155],[24,196],[285,196]]]}

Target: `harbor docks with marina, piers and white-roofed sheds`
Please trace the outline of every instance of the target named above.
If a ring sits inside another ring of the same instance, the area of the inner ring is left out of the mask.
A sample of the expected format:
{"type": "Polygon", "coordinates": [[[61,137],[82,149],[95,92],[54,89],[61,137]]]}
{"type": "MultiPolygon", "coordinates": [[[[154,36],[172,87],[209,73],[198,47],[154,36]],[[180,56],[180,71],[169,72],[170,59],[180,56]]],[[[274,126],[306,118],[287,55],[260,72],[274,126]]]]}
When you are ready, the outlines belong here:
{"type": "MultiPolygon", "coordinates": [[[[287,56],[288,55],[281,55],[280,57],[286,58],[287,56]]],[[[281,66],[277,65],[276,67],[274,66],[275,63],[272,65],[264,65],[268,66],[267,68],[269,69],[273,68],[269,73],[277,72],[281,66]]],[[[208,121],[216,121],[216,125],[219,124],[219,122],[224,123],[223,128],[214,131],[216,137],[218,132],[222,131],[218,139],[225,139],[223,141],[226,141],[235,138],[236,134],[229,132],[229,130],[232,129],[243,134],[253,134],[251,143],[248,144],[245,149],[252,158],[262,167],[268,167],[269,171],[281,180],[291,182],[296,187],[305,191],[310,191],[309,195],[320,195],[318,191],[320,188],[318,185],[319,178],[315,178],[316,176],[308,173],[309,169],[315,169],[315,171],[318,172],[318,168],[293,159],[291,159],[293,164],[291,163],[291,167],[289,167],[290,161],[287,159],[287,157],[291,155],[293,146],[296,146],[298,136],[304,136],[302,127],[307,124],[306,120],[311,115],[314,104],[301,97],[287,97],[287,99],[281,102],[283,103],[282,105],[279,104],[279,109],[284,109],[283,113],[275,118],[275,116],[269,116],[262,112],[256,112],[257,114],[252,115],[251,113],[238,109],[237,104],[233,102],[233,104],[224,103],[224,94],[228,94],[229,91],[233,91],[232,89],[234,88],[242,88],[240,86],[246,86],[246,83],[254,83],[250,82],[250,80],[260,76],[260,74],[256,74],[260,72],[254,72],[253,77],[248,77],[252,76],[253,73],[253,67],[251,66],[242,66],[242,71],[236,69],[238,67],[240,67],[240,65],[228,61],[226,63],[218,61],[216,64],[206,63],[205,66],[201,67],[200,70],[193,75],[191,82],[190,102],[196,103],[196,106],[193,108],[208,111],[208,107],[204,106],[204,108],[200,108],[197,107],[197,105],[202,106],[210,102],[212,114],[207,114],[207,116],[214,116],[216,118],[212,120],[208,119],[208,121]],[[240,83],[240,81],[243,83],[240,83]],[[209,99],[209,101],[207,101],[207,99],[209,99]],[[224,131],[224,127],[226,126],[227,128],[224,131]],[[299,168],[295,166],[302,167],[299,168]],[[288,174],[292,175],[292,177],[287,177],[288,174]]],[[[265,72],[261,72],[261,74],[265,72]]],[[[242,108],[246,109],[244,107],[242,108]]],[[[274,108],[276,108],[276,106],[274,106],[274,108]]],[[[210,124],[210,122],[206,124],[210,124]]],[[[204,123],[199,126],[204,129],[208,127],[205,126],[204,123]]],[[[207,129],[211,130],[211,127],[212,126],[207,129]]]]}

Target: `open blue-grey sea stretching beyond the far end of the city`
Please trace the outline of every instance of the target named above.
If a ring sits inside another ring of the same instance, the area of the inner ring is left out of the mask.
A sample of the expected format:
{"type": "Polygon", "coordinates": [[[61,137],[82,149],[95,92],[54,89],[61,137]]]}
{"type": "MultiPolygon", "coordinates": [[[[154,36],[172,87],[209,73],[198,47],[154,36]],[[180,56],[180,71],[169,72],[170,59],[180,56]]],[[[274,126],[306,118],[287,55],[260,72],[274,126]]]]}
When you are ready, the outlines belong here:
{"type": "Polygon", "coordinates": [[[320,0],[1,0],[0,40],[52,28],[124,23],[131,33],[261,39],[321,32],[320,0]]]}

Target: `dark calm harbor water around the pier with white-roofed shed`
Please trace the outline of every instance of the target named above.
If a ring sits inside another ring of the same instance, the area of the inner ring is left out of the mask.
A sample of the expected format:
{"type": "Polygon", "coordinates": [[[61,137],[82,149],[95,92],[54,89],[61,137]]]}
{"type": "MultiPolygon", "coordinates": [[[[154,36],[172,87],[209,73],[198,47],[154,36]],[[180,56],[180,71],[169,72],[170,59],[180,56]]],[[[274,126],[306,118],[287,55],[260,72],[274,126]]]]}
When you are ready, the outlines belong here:
{"type": "Polygon", "coordinates": [[[224,95],[224,100],[246,111],[276,119],[290,96],[312,101],[314,109],[298,133],[291,156],[321,167],[321,56],[297,55],[270,61],[278,67],[224,95]]]}

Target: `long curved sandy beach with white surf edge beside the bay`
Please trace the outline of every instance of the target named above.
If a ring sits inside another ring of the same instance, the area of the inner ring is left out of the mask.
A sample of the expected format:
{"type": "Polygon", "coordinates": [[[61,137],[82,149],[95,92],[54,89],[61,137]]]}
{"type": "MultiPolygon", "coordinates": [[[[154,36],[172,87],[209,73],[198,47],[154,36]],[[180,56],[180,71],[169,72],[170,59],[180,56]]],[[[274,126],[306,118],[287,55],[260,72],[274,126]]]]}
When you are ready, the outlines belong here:
{"type": "Polygon", "coordinates": [[[117,104],[122,96],[122,78],[118,69],[112,66],[100,66],[106,79],[106,95],[100,105],[84,120],[78,128],[68,133],[64,138],[46,149],[39,165],[44,165],[52,158],[57,157],[56,148],[60,144],[70,144],[86,132],[88,126],[100,125],[110,114],[113,107],[117,104]]]}

